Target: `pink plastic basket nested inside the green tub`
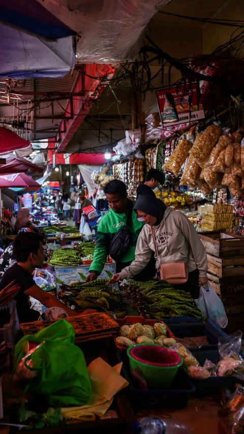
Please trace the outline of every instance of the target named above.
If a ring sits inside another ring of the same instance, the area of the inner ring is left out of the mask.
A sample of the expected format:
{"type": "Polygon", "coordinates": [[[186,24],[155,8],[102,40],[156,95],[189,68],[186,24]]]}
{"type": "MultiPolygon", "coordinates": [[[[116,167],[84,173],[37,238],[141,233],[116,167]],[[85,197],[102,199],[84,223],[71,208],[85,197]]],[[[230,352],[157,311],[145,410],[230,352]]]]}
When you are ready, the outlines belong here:
{"type": "Polygon", "coordinates": [[[175,351],[170,351],[163,346],[155,345],[134,345],[130,355],[139,362],[153,366],[175,366],[181,362],[181,357],[175,351]]]}

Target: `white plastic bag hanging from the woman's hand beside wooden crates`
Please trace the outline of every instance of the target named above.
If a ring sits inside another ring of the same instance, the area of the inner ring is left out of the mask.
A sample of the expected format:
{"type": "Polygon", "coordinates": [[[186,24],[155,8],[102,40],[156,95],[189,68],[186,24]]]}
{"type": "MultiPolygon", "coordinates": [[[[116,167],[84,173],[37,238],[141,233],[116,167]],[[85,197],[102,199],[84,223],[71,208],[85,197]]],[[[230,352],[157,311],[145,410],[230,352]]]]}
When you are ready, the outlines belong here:
{"type": "Polygon", "coordinates": [[[200,296],[194,300],[198,309],[213,323],[224,329],[228,324],[225,307],[210,283],[200,286],[200,296]]]}

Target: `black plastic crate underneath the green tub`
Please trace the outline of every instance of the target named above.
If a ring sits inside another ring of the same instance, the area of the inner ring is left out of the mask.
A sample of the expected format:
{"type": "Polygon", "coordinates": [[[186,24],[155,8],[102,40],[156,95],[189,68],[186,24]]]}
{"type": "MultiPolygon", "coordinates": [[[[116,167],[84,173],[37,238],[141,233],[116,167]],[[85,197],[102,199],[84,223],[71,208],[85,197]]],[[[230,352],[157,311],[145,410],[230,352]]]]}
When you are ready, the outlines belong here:
{"type": "Polygon", "coordinates": [[[178,369],[170,389],[138,389],[130,375],[129,358],[125,351],[117,352],[117,358],[123,362],[121,373],[129,383],[129,398],[133,408],[181,409],[186,407],[188,399],[194,394],[195,386],[184,369],[178,369]]]}

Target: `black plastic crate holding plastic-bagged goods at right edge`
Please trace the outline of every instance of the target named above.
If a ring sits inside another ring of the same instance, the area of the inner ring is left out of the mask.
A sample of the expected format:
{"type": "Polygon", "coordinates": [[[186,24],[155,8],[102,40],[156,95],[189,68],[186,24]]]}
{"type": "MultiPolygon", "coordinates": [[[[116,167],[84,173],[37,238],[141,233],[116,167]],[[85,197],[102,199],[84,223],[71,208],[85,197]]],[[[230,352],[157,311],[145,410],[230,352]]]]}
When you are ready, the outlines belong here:
{"type": "MultiPolygon", "coordinates": [[[[206,359],[213,363],[220,361],[218,348],[209,348],[208,345],[202,345],[200,348],[189,348],[193,356],[198,360],[201,366],[204,365],[206,359]]],[[[242,355],[242,354],[241,354],[242,355]]],[[[234,375],[224,375],[223,377],[209,377],[206,379],[197,379],[187,374],[188,378],[195,384],[197,395],[215,394],[222,387],[231,388],[235,383],[244,384],[244,381],[239,380],[234,375]]]]}

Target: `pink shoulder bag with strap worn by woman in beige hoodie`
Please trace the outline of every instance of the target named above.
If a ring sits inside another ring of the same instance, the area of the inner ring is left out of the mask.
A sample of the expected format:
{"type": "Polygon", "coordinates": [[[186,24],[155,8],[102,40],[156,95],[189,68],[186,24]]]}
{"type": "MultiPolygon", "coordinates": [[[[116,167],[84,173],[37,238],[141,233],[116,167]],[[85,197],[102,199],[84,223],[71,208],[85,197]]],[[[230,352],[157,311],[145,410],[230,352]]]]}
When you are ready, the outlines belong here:
{"type": "Polygon", "coordinates": [[[188,266],[185,262],[168,262],[166,264],[160,264],[159,252],[155,240],[153,226],[150,226],[150,228],[151,228],[151,235],[153,236],[153,241],[155,245],[155,252],[156,252],[158,266],[159,266],[158,271],[160,273],[160,279],[167,280],[172,285],[186,283],[188,281],[188,266]]]}

